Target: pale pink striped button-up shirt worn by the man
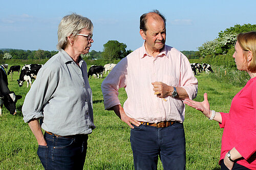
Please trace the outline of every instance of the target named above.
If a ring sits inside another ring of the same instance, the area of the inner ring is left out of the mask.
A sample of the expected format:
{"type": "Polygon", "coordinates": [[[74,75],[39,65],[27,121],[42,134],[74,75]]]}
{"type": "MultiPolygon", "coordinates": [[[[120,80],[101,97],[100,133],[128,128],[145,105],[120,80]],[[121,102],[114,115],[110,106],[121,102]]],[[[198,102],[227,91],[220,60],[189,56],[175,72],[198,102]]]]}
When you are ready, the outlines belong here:
{"type": "Polygon", "coordinates": [[[183,87],[189,99],[196,98],[198,81],[188,59],[174,47],[165,45],[155,58],[148,55],[144,44],[123,58],[104,79],[101,89],[105,109],[120,105],[118,89],[124,87],[127,100],[123,109],[127,116],[140,122],[184,121],[185,105],[167,96],[164,101],[154,94],[152,82],[183,87]]]}

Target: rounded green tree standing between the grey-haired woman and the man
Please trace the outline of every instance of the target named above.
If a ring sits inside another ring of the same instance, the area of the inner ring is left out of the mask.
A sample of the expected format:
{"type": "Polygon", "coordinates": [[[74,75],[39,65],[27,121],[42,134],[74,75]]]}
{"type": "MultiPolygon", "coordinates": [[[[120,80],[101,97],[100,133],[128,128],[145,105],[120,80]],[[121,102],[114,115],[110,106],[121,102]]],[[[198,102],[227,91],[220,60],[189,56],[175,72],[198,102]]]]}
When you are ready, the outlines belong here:
{"type": "Polygon", "coordinates": [[[117,40],[110,40],[103,45],[103,58],[108,62],[113,62],[118,58],[125,57],[125,48],[127,47],[126,44],[120,43],[117,40]]]}

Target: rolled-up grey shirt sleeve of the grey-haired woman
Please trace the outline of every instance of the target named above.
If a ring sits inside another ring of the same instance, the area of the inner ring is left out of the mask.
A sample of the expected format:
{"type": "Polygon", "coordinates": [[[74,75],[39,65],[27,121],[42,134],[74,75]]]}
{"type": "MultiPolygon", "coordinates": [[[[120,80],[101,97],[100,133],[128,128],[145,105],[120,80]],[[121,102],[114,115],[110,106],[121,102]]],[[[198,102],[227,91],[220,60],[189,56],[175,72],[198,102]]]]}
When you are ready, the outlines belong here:
{"type": "Polygon", "coordinates": [[[37,78],[27,93],[22,107],[25,123],[28,123],[34,118],[44,117],[42,109],[48,103],[49,99],[51,99],[57,86],[57,79],[57,74],[54,71],[45,67],[40,68],[37,78]]]}

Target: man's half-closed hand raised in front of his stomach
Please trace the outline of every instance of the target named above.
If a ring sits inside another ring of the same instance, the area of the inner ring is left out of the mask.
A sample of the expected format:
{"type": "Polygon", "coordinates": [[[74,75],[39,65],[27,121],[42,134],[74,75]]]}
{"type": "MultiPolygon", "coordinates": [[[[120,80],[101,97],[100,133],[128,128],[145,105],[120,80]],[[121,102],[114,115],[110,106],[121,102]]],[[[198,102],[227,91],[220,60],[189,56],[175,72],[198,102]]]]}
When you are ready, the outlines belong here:
{"type": "Polygon", "coordinates": [[[155,91],[155,94],[159,98],[164,98],[168,95],[172,94],[172,91],[174,88],[172,86],[168,86],[167,84],[164,84],[163,82],[154,82],[152,83],[154,86],[153,90],[155,91]]]}

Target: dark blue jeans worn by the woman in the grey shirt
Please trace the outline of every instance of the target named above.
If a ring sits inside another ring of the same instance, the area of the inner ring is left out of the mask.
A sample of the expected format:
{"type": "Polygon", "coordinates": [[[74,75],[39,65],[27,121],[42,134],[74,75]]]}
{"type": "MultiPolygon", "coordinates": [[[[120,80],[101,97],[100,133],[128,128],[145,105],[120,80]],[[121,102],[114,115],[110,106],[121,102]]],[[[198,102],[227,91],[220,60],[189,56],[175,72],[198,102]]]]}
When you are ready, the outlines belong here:
{"type": "Polygon", "coordinates": [[[45,133],[47,146],[38,145],[37,155],[45,169],[83,169],[88,135],[70,138],[45,133]]]}

